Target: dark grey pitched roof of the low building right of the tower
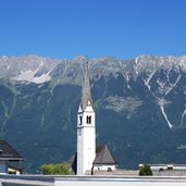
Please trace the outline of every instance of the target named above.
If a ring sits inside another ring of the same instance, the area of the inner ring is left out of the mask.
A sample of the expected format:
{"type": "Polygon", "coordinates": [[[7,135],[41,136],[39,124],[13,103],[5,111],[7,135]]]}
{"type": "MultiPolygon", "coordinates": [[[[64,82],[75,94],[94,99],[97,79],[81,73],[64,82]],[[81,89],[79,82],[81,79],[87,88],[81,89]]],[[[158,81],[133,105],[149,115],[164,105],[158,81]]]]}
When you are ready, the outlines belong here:
{"type": "Polygon", "coordinates": [[[94,164],[116,164],[108,146],[98,146],[96,148],[96,158],[94,164]]]}

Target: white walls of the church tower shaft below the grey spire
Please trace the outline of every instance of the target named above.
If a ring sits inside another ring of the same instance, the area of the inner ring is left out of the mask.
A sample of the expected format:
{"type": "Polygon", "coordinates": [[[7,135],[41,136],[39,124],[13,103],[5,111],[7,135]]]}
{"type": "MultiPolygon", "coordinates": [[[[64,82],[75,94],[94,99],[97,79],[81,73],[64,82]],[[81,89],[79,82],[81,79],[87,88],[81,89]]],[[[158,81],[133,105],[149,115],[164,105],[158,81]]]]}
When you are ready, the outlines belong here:
{"type": "Polygon", "coordinates": [[[95,111],[88,106],[85,112],[77,114],[77,175],[85,175],[86,170],[91,170],[95,157],[95,111]],[[91,117],[90,123],[87,123],[87,116],[91,117]]]}

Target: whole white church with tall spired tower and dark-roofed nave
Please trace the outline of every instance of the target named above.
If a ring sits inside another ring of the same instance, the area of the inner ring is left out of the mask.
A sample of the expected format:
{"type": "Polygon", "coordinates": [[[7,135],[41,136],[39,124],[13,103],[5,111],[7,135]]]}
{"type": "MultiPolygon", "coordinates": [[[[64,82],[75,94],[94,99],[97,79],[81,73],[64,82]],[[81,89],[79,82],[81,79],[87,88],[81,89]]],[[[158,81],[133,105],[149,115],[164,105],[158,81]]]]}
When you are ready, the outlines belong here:
{"type": "Polygon", "coordinates": [[[96,113],[91,99],[86,63],[82,98],[77,113],[77,151],[70,159],[72,169],[77,175],[94,171],[115,171],[116,162],[107,145],[96,146],[96,113]]]}

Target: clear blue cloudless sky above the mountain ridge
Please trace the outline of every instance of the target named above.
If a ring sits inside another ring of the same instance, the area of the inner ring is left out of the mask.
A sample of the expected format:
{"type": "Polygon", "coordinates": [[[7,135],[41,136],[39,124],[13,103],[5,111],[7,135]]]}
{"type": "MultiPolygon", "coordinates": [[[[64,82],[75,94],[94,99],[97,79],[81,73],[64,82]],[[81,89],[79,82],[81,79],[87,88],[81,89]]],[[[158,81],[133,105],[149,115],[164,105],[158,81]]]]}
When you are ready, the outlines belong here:
{"type": "Polygon", "coordinates": [[[0,0],[0,55],[186,54],[186,0],[0,0]]]}

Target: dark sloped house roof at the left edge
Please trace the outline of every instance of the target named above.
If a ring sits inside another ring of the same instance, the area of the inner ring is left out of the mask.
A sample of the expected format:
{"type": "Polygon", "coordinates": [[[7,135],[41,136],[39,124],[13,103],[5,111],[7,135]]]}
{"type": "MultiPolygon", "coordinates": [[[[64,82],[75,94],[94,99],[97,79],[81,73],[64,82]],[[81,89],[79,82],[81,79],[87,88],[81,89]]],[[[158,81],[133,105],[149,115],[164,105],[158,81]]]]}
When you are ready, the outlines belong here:
{"type": "Polygon", "coordinates": [[[0,140],[0,160],[20,161],[23,157],[5,140],[0,140]]]}

